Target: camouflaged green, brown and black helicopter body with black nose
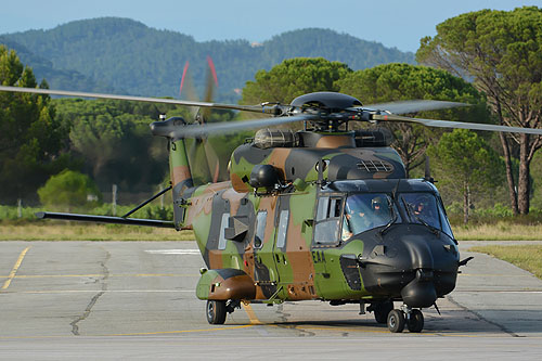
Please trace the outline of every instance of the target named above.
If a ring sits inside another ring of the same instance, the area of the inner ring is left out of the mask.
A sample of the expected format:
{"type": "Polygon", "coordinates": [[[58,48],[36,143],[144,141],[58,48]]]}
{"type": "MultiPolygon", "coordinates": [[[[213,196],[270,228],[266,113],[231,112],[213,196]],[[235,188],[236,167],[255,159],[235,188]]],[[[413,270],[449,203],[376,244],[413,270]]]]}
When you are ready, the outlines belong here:
{"type": "Polygon", "coordinates": [[[405,179],[388,146],[253,142],[232,154],[230,176],[186,189],[176,217],[192,225],[208,269],[201,299],[423,308],[455,286],[459,252],[438,191],[405,179]],[[270,168],[261,175],[262,165],[270,168]],[[427,215],[414,209],[417,198],[427,215]]]}

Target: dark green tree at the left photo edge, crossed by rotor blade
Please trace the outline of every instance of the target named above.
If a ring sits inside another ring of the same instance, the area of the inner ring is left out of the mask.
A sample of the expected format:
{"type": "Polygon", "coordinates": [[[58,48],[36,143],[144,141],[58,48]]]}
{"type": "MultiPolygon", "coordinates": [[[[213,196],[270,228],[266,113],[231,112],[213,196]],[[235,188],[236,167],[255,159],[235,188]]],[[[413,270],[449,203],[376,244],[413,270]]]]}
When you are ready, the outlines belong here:
{"type": "MultiPolygon", "coordinates": [[[[0,46],[0,83],[36,88],[33,70],[0,46]]],[[[47,88],[42,81],[41,88],[47,88]]],[[[70,165],[61,155],[67,129],[47,95],[0,93],[0,198],[14,203],[36,194],[47,179],[70,165]]]]}

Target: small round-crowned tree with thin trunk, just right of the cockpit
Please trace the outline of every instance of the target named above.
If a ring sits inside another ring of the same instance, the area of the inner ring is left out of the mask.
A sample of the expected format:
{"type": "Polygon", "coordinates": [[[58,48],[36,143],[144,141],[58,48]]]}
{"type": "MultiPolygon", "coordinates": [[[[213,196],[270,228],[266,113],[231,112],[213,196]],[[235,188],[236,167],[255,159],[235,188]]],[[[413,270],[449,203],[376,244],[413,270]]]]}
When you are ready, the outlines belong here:
{"type": "Polygon", "coordinates": [[[462,193],[463,221],[467,223],[472,193],[485,192],[500,183],[504,167],[501,158],[483,139],[467,129],[442,134],[428,153],[436,160],[435,170],[442,186],[462,193]]]}

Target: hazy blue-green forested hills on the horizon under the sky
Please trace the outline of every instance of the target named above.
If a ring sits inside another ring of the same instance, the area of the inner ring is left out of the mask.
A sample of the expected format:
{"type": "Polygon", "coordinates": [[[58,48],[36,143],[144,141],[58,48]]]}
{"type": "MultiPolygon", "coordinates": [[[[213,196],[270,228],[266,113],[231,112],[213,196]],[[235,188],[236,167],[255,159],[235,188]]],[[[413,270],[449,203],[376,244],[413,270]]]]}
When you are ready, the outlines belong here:
{"type": "Polygon", "coordinates": [[[270,69],[295,56],[323,56],[352,69],[414,63],[412,53],[328,29],[288,31],[257,44],[247,40],[197,42],[188,35],[118,17],[7,34],[0,37],[1,42],[15,49],[23,63],[33,66],[36,77],[44,77],[51,88],[155,96],[178,96],[186,61],[195,86],[202,88],[210,55],[218,73],[220,101],[235,100],[235,89],[243,88],[258,69],[270,69]]]}

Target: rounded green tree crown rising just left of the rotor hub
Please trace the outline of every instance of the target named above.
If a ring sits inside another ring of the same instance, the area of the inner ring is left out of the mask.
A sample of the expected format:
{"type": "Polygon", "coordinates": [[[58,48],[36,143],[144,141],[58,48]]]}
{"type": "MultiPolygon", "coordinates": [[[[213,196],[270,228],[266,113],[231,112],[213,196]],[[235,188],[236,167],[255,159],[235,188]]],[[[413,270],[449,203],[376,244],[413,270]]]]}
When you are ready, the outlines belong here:
{"type": "Polygon", "coordinates": [[[243,88],[242,104],[279,102],[289,104],[295,98],[314,91],[338,91],[337,80],[352,70],[343,63],[323,57],[288,59],[271,70],[256,73],[255,81],[243,88]]]}

